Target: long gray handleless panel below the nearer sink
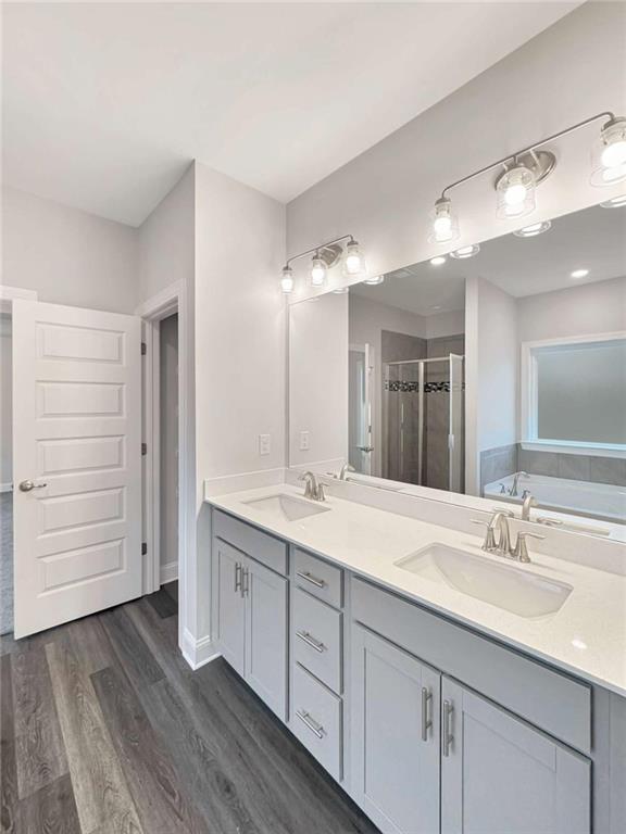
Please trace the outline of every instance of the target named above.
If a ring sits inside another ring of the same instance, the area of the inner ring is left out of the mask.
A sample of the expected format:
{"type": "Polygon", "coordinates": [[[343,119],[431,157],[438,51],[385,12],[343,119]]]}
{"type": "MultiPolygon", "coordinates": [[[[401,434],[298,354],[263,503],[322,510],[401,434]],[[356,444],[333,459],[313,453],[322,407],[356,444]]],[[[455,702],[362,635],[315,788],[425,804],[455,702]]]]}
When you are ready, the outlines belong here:
{"type": "Polygon", "coordinates": [[[354,578],[351,593],[354,620],[590,755],[588,684],[364,580],[354,578]]]}

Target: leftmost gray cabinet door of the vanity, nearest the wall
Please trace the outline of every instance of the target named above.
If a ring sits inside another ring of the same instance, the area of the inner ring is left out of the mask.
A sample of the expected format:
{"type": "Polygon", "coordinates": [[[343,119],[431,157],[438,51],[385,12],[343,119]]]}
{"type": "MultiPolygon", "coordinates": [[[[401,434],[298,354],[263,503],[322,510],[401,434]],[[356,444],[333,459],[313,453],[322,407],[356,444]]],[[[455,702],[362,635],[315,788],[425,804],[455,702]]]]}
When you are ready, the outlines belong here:
{"type": "Polygon", "coordinates": [[[241,578],[246,556],[218,539],[214,540],[217,583],[217,645],[230,666],[243,674],[246,599],[241,578]]]}

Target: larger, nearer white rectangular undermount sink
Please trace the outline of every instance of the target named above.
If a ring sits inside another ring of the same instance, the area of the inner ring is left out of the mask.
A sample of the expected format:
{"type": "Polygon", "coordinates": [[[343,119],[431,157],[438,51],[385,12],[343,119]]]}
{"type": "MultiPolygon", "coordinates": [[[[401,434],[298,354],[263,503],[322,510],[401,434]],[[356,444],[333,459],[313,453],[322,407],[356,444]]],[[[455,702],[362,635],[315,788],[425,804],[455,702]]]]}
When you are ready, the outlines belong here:
{"type": "Polygon", "coordinates": [[[564,582],[445,544],[430,544],[396,565],[519,617],[554,614],[572,593],[572,585],[564,582]]]}

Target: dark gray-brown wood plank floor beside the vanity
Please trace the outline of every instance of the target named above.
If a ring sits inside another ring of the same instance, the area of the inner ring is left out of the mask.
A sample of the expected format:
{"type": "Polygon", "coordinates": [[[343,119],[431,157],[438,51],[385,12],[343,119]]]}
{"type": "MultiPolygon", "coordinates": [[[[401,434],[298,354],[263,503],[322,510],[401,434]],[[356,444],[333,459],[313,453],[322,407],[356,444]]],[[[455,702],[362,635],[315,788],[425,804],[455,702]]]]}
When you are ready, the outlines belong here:
{"type": "Polygon", "coordinates": [[[191,671],[175,585],[0,641],[2,834],[376,834],[227,664],[191,671]]]}

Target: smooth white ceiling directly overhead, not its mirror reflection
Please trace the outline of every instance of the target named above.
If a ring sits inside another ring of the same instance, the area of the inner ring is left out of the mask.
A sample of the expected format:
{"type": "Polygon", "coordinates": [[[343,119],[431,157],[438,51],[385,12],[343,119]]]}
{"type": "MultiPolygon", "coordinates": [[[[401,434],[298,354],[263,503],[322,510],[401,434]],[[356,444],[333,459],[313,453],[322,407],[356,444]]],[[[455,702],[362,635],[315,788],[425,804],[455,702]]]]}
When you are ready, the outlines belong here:
{"type": "Polygon", "coordinates": [[[287,202],[576,5],[5,3],[4,181],[136,226],[197,159],[287,202]]]}

